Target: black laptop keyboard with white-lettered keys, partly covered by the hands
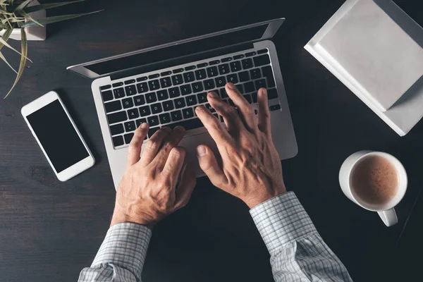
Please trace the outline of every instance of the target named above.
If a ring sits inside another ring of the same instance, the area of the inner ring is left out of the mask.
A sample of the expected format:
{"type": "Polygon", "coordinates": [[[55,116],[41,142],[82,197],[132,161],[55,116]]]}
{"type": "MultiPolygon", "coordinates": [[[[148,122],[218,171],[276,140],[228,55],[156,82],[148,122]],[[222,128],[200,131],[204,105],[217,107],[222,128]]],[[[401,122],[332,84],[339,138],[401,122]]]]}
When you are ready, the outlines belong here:
{"type": "Polygon", "coordinates": [[[202,128],[195,116],[196,106],[206,106],[219,118],[207,102],[208,92],[216,92],[234,106],[226,94],[226,82],[235,84],[250,104],[257,103],[259,88],[267,88],[269,100],[273,100],[269,101],[270,110],[281,110],[267,49],[209,59],[100,87],[114,147],[128,146],[141,123],[150,126],[146,140],[161,126],[202,128]]]}

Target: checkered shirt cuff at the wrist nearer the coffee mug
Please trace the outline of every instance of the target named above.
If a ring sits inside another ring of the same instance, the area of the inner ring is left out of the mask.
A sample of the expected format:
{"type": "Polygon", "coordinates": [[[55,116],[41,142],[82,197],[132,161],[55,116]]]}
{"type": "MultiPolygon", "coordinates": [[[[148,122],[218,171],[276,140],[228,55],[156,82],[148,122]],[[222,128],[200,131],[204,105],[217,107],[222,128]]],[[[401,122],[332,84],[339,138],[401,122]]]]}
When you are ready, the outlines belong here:
{"type": "Polygon", "coordinates": [[[287,243],[317,233],[294,192],[262,202],[250,209],[250,214],[270,255],[275,255],[287,243]]]}

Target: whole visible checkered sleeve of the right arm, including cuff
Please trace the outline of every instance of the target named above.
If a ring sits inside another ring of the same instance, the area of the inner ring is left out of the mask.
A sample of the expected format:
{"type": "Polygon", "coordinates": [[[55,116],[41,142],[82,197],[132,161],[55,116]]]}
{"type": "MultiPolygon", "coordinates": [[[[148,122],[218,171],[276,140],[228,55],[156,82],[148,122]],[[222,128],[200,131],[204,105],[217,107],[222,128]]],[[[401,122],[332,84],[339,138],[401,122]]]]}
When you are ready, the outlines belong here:
{"type": "Polygon", "coordinates": [[[276,282],[352,281],[294,192],[267,200],[252,208],[250,214],[271,255],[276,282]]]}

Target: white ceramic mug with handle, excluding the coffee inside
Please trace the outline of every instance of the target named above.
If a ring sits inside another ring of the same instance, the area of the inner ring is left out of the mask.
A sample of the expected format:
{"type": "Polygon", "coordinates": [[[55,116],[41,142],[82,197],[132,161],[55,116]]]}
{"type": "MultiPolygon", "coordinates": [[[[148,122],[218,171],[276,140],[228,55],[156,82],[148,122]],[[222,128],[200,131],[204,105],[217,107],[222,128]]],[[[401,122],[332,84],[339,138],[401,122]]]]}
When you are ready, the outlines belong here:
{"type": "Polygon", "coordinates": [[[405,168],[403,164],[393,157],[391,154],[383,153],[383,152],[372,152],[372,151],[360,151],[352,154],[350,157],[345,159],[341,166],[341,170],[339,171],[339,184],[341,185],[341,189],[345,196],[348,197],[351,201],[358,204],[360,207],[367,209],[372,212],[377,212],[381,217],[382,221],[384,221],[386,226],[393,226],[398,222],[398,218],[396,216],[396,212],[394,207],[403,200],[405,195],[405,191],[407,190],[407,173],[405,172],[405,168]],[[365,157],[369,156],[379,156],[384,157],[388,161],[395,166],[396,171],[398,173],[399,184],[398,190],[395,197],[392,198],[391,201],[384,203],[384,204],[369,204],[367,202],[363,202],[360,200],[354,189],[352,188],[351,183],[353,171],[357,164],[364,159],[365,157]]]}

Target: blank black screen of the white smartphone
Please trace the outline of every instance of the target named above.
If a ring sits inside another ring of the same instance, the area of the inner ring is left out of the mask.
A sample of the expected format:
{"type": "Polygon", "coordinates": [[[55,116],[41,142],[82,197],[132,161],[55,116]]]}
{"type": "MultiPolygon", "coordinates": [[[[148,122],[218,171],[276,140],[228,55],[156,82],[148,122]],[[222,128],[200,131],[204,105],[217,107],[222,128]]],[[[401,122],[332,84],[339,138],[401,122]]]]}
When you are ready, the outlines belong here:
{"type": "Polygon", "coordinates": [[[59,100],[27,116],[57,173],[89,157],[59,100]]]}

